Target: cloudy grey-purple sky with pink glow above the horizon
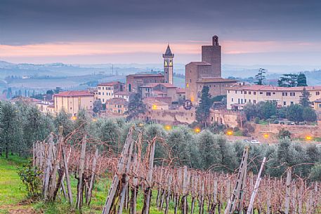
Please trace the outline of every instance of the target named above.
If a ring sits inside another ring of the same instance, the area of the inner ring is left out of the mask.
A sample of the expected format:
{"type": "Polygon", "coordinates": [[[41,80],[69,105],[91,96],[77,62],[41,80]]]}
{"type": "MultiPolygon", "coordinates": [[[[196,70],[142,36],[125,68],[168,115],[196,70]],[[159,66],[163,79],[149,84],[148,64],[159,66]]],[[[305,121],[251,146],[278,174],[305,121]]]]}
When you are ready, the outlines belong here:
{"type": "Polygon", "coordinates": [[[321,65],[321,1],[1,0],[0,60],[70,64],[201,59],[218,35],[223,65],[321,65]]]}

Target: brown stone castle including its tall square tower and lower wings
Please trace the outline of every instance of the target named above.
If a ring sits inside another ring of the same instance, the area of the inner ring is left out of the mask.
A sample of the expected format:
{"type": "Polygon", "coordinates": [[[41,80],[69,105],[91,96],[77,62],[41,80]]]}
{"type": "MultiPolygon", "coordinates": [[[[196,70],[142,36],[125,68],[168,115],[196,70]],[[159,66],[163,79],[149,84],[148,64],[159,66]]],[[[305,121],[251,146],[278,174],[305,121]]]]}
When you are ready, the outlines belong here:
{"type": "Polygon", "coordinates": [[[221,77],[221,46],[218,36],[213,36],[211,46],[202,46],[202,62],[185,65],[186,99],[199,101],[203,86],[209,86],[212,97],[226,95],[226,88],[236,83],[221,77]]]}

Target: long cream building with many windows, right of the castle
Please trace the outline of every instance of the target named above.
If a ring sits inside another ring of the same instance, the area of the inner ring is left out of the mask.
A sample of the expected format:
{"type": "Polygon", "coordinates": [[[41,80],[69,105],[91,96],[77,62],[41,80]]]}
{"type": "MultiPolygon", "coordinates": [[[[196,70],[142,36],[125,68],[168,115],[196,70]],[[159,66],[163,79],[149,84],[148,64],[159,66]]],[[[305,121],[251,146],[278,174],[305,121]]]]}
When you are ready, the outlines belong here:
{"type": "Polygon", "coordinates": [[[234,86],[227,88],[227,108],[242,109],[247,103],[274,101],[278,107],[299,104],[303,88],[310,93],[310,102],[321,98],[321,86],[276,87],[276,86],[234,86]]]}

